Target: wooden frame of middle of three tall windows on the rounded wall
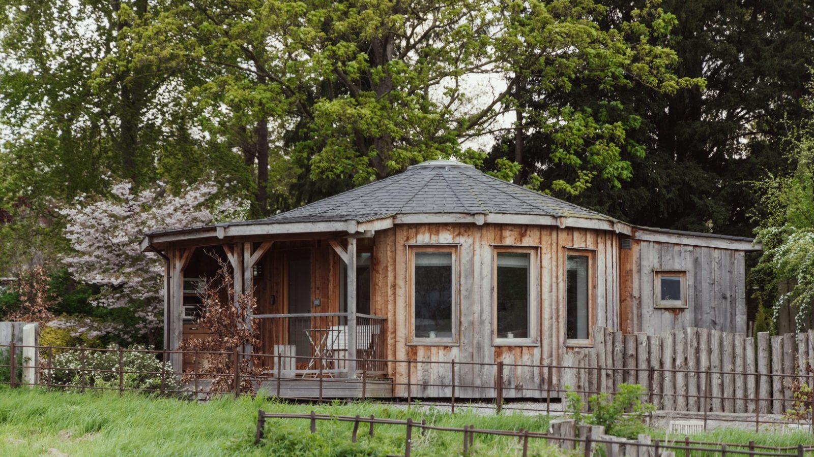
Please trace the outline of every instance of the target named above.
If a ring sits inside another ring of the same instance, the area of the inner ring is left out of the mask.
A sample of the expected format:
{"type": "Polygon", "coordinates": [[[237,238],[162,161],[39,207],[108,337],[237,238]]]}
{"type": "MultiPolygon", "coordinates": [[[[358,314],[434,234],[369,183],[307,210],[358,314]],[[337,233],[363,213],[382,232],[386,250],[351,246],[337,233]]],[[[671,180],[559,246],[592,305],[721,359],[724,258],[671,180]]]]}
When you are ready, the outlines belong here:
{"type": "Polygon", "coordinates": [[[540,310],[539,246],[492,246],[492,346],[538,346],[540,310]],[[497,255],[501,253],[528,255],[528,334],[526,338],[497,337],[497,255]]]}

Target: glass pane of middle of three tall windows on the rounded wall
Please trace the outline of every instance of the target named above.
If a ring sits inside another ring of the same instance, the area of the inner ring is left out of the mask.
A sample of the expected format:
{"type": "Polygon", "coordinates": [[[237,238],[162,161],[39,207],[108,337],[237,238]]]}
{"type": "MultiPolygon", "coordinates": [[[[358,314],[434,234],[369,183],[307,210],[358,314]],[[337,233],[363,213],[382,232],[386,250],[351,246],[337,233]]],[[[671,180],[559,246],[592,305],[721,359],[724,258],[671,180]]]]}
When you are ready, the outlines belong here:
{"type": "Polygon", "coordinates": [[[527,338],[530,255],[497,253],[497,337],[527,338]]]}

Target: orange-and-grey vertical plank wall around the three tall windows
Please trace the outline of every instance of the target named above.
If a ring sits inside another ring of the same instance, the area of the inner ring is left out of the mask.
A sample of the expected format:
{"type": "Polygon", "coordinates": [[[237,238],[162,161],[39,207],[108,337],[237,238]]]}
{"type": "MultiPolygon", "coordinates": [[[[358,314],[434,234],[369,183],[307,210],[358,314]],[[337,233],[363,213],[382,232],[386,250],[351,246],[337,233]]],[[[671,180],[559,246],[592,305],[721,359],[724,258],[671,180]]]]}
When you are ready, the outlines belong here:
{"type": "MultiPolygon", "coordinates": [[[[557,228],[533,225],[498,224],[400,224],[375,235],[374,307],[387,312],[388,348],[391,359],[416,361],[391,363],[389,376],[396,385],[396,396],[407,394],[410,383],[433,384],[412,388],[416,397],[446,397],[451,394],[452,373],[449,363],[457,362],[455,383],[460,397],[491,397],[494,366],[467,363],[547,364],[560,363],[567,350],[565,343],[565,255],[567,247],[594,250],[593,287],[595,311],[593,324],[619,328],[618,237],[615,233],[583,228],[557,228]],[[408,245],[457,244],[459,268],[458,299],[460,318],[454,346],[413,346],[409,342],[409,264],[408,245]],[[493,246],[524,246],[538,250],[540,268],[536,285],[540,299],[537,342],[533,346],[492,345],[492,249],[493,246]]],[[[505,366],[506,397],[540,397],[533,390],[545,389],[545,371],[540,368],[505,366]]],[[[558,385],[558,380],[554,380],[558,385]]]]}

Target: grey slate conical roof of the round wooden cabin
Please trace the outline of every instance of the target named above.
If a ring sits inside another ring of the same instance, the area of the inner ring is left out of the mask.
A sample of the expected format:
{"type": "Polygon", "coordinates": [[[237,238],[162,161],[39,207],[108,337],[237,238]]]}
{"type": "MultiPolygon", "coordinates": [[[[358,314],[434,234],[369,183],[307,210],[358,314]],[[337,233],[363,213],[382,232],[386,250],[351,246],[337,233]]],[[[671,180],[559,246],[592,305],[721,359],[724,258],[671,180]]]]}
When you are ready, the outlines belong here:
{"type": "MultiPolygon", "coordinates": [[[[380,219],[400,214],[516,214],[611,220],[607,215],[479,172],[453,160],[431,160],[396,176],[324,198],[265,220],[322,222],[380,219]]],[[[238,223],[240,224],[240,223],[238,223]]]]}

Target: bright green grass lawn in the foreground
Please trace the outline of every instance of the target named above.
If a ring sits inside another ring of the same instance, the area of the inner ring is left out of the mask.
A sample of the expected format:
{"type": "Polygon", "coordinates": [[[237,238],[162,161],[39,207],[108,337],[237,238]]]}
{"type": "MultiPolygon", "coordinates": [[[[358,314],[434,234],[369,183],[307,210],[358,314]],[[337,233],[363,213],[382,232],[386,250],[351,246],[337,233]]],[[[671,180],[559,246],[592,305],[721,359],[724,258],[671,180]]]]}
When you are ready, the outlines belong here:
{"type": "MultiPolygon", "coordinates": [[[[266,437],[254,445],[257,410],[370,416],[479,429],[545,431],[546,416],[479,415],[414,409],[376,403],[304,405],[259,398],[220,398],[193,403],[139,394],[65,393],[0,387],[0,455],[387,455],[404,454],[405,429],[376,425],[374,438],[359,433],[351,442],[352,424],[318,421],[309,433],[308,420],[268,420],[266,437]]],[[[366,426],[361,427],[366,431],[366,426]]],[[[662,433],[654,433],[658,436],[662,433]]],[[[754,440],[767,446],[812,442],[807,433],[755,434],[718,430],[693,437],[707,442],[754,440]]],[[[558,455],[541,440],[530,441],[531,455],[558,455]]],[[[462,434],[414,431],[414,455],[461,455],[462,434]]],[[[472,455],[519,455],[521,446],[510,437],[475,437],[472,455]]]]}

